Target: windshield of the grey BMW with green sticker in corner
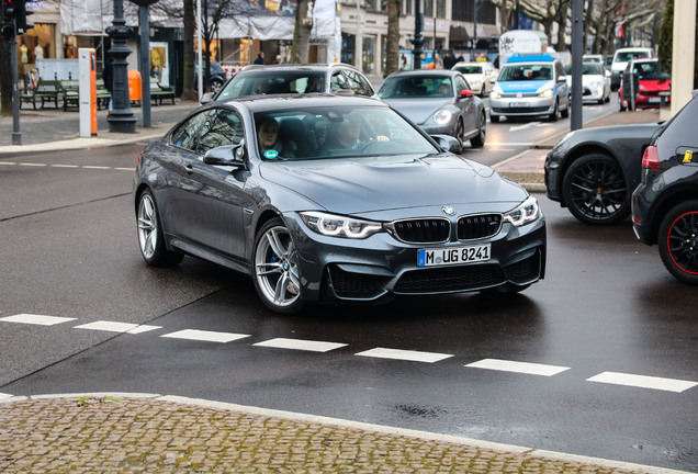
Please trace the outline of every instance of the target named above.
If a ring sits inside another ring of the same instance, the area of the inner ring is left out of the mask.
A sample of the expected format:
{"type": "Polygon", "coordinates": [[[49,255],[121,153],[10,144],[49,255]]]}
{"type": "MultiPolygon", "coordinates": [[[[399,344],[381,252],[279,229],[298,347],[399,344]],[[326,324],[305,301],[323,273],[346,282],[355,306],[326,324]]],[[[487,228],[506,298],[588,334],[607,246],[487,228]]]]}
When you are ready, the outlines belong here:
{"type": "Polygon", "coordinates": [[[392,109],[322,106],[255,114],[263,160],[308,160],[439,153],[392,109]]]}

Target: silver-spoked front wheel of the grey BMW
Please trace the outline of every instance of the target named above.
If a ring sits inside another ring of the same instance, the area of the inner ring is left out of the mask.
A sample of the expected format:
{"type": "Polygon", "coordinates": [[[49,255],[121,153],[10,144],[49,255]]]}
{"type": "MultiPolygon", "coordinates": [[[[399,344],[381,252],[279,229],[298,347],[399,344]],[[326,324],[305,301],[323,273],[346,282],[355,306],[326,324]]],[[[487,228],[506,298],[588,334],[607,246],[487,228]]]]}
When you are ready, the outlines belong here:
{"type": "Polygon", "coordinates": [[[280,218],[267,222],[255,238],[255,290],[262,303],[279,314],[295,314],[304,305],[295,245],[280,218]]]}

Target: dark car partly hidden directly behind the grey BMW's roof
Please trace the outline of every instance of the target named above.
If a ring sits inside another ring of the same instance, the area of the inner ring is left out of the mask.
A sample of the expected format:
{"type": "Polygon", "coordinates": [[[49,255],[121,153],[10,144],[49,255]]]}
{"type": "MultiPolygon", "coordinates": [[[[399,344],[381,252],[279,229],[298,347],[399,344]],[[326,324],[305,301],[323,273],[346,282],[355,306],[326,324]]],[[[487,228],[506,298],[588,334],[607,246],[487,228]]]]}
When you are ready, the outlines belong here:
{"type": "Polygon", "coordinates": [[[313,65],[250,65],[215,94],[204,94],[201,103],[243,95],[352,91],[357,95],[378,97],[369,79],[353,66],[331,63],[313,65]]]}

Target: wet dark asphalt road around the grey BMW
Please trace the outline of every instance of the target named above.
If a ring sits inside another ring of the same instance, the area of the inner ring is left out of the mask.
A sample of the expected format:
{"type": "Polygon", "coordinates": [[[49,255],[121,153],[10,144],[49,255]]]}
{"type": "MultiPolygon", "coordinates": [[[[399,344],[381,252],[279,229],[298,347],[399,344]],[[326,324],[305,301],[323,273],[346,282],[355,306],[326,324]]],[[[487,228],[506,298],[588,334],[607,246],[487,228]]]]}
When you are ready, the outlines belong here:
{"type": "MultiPolygon", "coordinates": [[[[76,319],[0,323],[0,392],[185,395],[698,471],[698,387],[674,393],[589,381],[605,372],[698,381],[698,292],[668,275],[629,222],[587,227],[538,195],[548,274],[520,295],[316,306],[281,317],[263,309],[244,275],[190,258],[177,269],[145,267],[131,173],[116,169],[127,168],[137,148],[110,151],[101,162],[110,169],[3,167],[0,317],[76,319]],[[95,320],[159,328],[76,328],[95,320]],[[161,337],[183,329],[247,337],[161,337]],[[346,346],[256,346],[273,338],[346,346]],[[375,348],[451,357],[427,363],[361,356],[375,348]],[[543,376],[466,366],[487,359],[565,370],[543,376]]],[[[85,162],[75,153],[52,159],[85,162]]]]}

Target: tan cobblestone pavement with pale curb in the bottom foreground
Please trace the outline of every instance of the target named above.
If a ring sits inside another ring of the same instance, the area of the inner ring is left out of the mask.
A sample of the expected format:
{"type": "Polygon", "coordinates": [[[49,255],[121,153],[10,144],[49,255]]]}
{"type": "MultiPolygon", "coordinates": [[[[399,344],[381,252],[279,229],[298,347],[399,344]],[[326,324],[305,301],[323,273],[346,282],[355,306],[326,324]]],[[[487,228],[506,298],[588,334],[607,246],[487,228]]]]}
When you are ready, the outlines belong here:
{"type": "Polygon", "coordinates": [[[190,398],[0,402],[4,474],[677,472],[190,398]]]}

